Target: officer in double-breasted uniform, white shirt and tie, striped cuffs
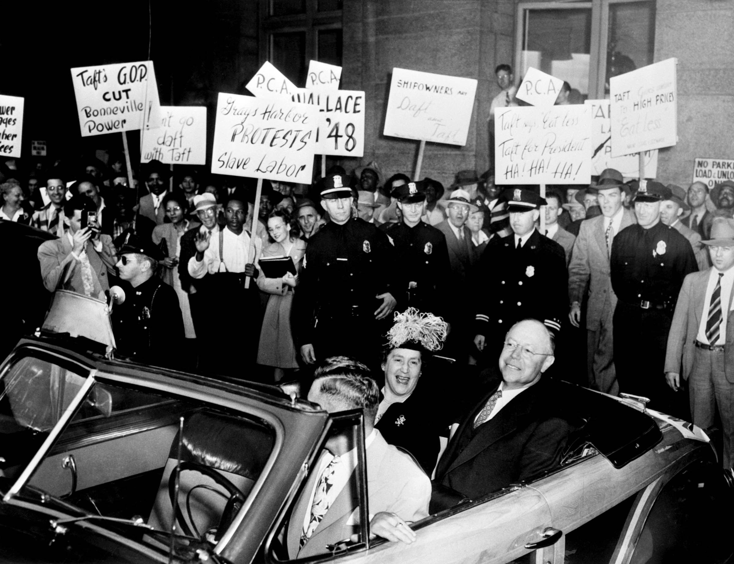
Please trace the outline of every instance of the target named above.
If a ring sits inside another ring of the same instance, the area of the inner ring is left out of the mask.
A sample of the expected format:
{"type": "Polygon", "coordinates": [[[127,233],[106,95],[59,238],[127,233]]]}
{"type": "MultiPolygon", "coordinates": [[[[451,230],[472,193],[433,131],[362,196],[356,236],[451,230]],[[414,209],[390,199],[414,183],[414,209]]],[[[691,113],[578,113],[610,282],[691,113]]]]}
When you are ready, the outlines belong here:
{"type": "Polygon", "coordinates": [[[567,302],[563,247],[539,234],[535,222],[545,199],[529,187],[506,189],[513,234],[492,239],[477,266],[483,292],[476,297],[474,344],[495,358],[508,328],[520,319],[540,319],[558,332],[567,302]]]}

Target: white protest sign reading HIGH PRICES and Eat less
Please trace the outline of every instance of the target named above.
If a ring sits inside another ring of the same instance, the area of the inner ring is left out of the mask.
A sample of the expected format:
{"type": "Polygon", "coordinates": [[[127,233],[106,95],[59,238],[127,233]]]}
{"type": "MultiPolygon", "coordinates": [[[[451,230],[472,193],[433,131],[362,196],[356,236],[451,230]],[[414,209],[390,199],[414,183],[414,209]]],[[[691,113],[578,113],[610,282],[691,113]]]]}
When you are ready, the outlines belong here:
{"type": "Polygon", "coordinates": [[[676,63],[666,59],[609,79],[611,156],[675,145],[676,63]]]}

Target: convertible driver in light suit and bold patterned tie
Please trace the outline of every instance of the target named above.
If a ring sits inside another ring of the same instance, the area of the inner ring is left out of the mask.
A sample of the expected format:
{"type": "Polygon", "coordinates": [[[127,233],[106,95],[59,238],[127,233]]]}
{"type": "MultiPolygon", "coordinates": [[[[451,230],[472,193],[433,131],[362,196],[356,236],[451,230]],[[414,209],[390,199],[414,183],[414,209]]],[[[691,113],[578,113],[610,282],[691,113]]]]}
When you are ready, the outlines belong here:
{"type": "MultiPolygon", "coordinates": [[[[327,358],[314,373],[308,400],[329,413],[363,408],[371,535],[415,541],[408,523],[428,516],[431,482],[410,455],[385,442],[374,428],[377,383],[367,366],[349,357],[327,358]]],[[[327,545],[359,531],[357,452],[351,433],[332,435],[294,506],[286,532],[291,558],[329,552],[327,545]]]]}

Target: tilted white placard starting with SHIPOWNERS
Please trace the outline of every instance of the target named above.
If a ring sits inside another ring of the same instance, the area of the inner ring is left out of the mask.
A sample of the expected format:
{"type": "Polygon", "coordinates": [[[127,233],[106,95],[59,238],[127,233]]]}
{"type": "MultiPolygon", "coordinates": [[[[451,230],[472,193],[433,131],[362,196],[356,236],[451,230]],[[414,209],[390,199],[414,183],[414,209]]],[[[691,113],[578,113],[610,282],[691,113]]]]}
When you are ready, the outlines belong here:
{"type": "Polygon", "coordinates": [[[476,80],[393,68],[383,133],[466,145],[476,80]]]}

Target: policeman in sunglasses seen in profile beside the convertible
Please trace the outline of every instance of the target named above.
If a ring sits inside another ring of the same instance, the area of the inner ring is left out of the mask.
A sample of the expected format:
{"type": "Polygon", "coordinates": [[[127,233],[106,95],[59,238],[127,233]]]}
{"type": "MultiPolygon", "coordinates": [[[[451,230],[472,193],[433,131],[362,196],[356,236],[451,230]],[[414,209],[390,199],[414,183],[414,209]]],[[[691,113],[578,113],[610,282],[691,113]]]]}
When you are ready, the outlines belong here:
{"type": "Polygon", "coordinates": [[[184,333],[178,296],[155,276],[161,250],[131,235],[117,256],[120,278],[131,286],[125,301],[112,310],[117,350],[143,364],[189,368],[181,366],[184,333]]]}

